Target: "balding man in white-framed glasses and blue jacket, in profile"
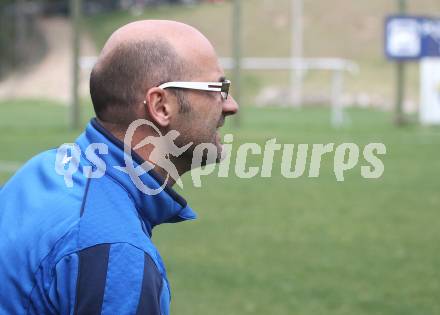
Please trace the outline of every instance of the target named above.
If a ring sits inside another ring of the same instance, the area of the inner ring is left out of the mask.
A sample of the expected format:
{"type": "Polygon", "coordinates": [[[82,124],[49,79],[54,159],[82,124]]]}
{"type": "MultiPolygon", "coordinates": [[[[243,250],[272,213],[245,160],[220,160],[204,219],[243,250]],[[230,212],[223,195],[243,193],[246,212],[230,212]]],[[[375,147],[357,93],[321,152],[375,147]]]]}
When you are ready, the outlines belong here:
{"type": "Polygon", "coordinates": [[[158,133],[188,148],[165,157],[179,176],[198,144],[220,150],[218,128],[238,109],[228,88],[213,47],[188,25],[139,21],[113,33],[90,78],[97,118],[70,151],[34,157],[0,192],[0,314],[168,314],[151,232],[195,214],[170,185],[138,189],[133,178],[154,189],[178,180],[159,163],[135,174],[124,165],[127,155],[132,170],[153,162],[142,141],[158,133]]]}

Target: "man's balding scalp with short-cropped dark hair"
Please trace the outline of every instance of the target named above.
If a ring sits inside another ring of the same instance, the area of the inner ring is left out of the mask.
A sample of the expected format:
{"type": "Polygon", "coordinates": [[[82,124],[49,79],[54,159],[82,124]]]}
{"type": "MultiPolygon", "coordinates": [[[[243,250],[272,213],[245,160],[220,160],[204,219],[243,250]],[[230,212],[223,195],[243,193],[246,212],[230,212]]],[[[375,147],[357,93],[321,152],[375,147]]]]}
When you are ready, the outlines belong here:
{"type": "MultiPolygon", "coordinates": [[[[97,117],[130,124],[139,118],[151,87],[191,80],[201,70],[201,61],[212,56],[215,51],[208,39],[183,23],[147,20],[119,28],[104,45],[90,77],[97,117]]],[[[178,92],[177,96],[183,98],[178,92]]]]}

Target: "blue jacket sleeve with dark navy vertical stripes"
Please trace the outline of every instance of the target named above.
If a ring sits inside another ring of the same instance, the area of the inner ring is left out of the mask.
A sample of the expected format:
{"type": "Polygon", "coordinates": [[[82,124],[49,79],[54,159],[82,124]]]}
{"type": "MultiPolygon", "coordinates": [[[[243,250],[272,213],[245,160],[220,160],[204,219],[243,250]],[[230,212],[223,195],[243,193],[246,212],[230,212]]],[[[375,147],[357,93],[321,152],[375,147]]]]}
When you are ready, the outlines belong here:
{"type": "Polygon", "coordinates": [[[57,266],[61,314],[166,314],[162,275],[144,251],[127,243],[100,244],[72,257],[57,266]]]}

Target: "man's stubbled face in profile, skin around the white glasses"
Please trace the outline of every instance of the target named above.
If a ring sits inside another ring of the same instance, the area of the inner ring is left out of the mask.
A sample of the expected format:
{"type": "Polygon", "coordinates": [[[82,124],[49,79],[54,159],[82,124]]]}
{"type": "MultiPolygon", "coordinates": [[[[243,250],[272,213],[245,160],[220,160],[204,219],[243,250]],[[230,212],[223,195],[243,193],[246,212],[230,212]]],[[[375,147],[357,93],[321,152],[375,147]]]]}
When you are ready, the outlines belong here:
{"type": "MultiPolygon", "coordinates": [[[[221,82],[225,80],[216,56],[200,61],[199,71],[191,81],[221,82]]],[[[173,124],[174,128],[180,132],[176,144],[182,146],[193,142],[192,147],[187,151],[191,159],[192,151],[198,144],[214,144],[219,158],[222,150],[219,128],[224,124],[226,116],[237,112],[237,103],[230,95],[224,100],[220,92],[184,90],[183,95],[190,110],[179,113],[173,124]]]]}

